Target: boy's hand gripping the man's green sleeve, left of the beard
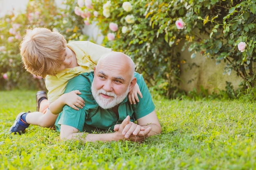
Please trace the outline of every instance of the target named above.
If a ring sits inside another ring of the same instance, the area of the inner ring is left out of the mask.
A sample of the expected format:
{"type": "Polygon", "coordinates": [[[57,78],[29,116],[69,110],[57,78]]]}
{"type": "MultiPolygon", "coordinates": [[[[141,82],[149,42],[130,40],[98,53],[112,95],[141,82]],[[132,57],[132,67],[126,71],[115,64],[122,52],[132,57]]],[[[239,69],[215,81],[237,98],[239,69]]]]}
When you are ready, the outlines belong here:
{"type": "Polygon", "coordinates": [[[83,109],[83,107],[85,106],[85,101],[83,100],[83,98],[78,96],[78,94],[81,94],[79,90],[65,93],[65,104],[69,105],[75,110],[79,110],[79,108],[83,109]]]}

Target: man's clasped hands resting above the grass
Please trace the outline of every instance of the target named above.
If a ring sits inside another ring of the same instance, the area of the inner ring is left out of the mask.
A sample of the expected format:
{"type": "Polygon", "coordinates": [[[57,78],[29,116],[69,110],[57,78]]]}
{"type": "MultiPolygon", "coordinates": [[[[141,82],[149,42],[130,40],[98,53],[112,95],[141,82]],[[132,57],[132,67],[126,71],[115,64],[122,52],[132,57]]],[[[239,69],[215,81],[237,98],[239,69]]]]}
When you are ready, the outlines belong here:
{"type": "Polygon", "coordinates": [[[125,139],[133,142],[144,141],[151,129],[151,127],[145,129],[139,124],[130,122],[130,116],[127,116],[121,124],[116,124],[114,127],[117,139],[125,139]]]}

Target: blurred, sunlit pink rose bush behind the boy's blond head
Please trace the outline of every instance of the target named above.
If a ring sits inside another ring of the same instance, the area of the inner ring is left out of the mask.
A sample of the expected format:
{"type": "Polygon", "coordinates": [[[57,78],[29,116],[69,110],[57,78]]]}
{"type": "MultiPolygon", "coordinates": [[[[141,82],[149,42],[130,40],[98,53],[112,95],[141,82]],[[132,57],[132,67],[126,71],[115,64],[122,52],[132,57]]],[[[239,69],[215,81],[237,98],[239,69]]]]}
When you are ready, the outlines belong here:
{"type": "Polygon", "coordinates": [[[84,23],[74,14],[77,1],[59,9],[51,0],[29,0],[27,10],[0,18],[0,89],[45,89],[44,81],[22,67],[19,44],[27,28],[47,27],[61,32],[69,40],[85,40],[84,23]]]}

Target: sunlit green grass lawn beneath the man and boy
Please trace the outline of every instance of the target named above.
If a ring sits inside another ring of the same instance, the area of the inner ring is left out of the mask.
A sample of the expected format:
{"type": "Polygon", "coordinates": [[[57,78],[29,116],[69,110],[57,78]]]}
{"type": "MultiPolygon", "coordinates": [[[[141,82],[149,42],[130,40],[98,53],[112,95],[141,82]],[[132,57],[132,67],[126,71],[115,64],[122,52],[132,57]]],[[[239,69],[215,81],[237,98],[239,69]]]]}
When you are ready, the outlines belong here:
{"type": "Polygon", "coordinates": [[[142,144],[63,142],[38,126],[9,134],[20,111],[35,111],[35,92],[0,92],[1,169],[256,169],[253,101],[158,99],[155,105],[163,132],[142,144]]]}

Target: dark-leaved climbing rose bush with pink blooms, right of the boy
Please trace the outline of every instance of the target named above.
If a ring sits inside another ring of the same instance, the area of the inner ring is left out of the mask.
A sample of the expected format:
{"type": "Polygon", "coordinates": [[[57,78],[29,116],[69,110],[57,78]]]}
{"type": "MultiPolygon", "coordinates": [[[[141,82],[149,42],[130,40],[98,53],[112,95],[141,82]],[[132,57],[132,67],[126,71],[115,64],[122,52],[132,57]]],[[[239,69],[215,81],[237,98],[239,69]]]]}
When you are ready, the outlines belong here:
{"type": "Polygon", "coordinates": [[[200,52],[216,63],[224,61],[225,72],[235,70],[244,85],[255,86],[254,0],[85,2],[76,10],[91,14],[82,17],[87,24],[97,22],[106,36],[103,44],[129,54],[152,85],[162,80],[159,89],[168,97],[179,90],[180,65],[186,62],[179,59],[180,42],[185,42],[182,50],[188,48],[192,58],[200,52]],[[118,29],[112,30],[111,23],[118,29]]]}

